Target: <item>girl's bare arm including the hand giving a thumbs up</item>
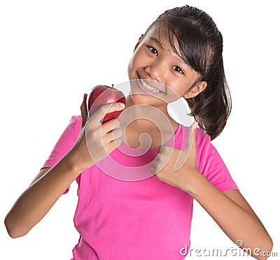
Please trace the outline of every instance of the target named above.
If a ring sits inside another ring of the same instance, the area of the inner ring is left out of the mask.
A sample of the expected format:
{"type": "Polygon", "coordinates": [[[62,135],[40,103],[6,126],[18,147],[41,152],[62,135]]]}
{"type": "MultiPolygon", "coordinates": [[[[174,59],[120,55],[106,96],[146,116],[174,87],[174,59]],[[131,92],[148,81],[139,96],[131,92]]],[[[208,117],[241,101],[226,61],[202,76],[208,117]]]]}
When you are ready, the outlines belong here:
{"type": "Polygon", "coordinates": [[[234,243],[241,240],[244,244],[241,248],[251,248],[252,257],[267,259],[261,254],[272,250],[272,240],[260,219],[237,189],[223,193],[197,170],[195,127],[189,131],[188,140],[193,141],[188,141],[183,151],[164,147],[155,160],[152,173],[193,196],[234,243]],[[178,161],[181,162],[179,168],[178,161]],[[259,255],[253,254],[255,248],[260,248],[259,255]]]}

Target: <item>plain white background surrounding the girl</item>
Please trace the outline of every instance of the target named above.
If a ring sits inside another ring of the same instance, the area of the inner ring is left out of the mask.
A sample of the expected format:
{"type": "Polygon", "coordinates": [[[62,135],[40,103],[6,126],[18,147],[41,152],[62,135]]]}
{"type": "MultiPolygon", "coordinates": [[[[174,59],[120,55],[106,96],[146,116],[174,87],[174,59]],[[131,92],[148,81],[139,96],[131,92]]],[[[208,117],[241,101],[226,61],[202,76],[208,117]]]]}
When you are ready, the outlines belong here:
{"type": "MultiPolygon", "coordinates": [[[[3,219],[79,115],[83,93],[127,80],[140,34],[186,3],[209,13],[223,34],[233,109],[213,143],[280,256],[277,1],[10,0],[0,2],[1,259],[71,258],[76,184],[23,238],[10,238],[3,219]]],[[[191,239],[194,249],[235,248],[197,203],[191,239]]]]}

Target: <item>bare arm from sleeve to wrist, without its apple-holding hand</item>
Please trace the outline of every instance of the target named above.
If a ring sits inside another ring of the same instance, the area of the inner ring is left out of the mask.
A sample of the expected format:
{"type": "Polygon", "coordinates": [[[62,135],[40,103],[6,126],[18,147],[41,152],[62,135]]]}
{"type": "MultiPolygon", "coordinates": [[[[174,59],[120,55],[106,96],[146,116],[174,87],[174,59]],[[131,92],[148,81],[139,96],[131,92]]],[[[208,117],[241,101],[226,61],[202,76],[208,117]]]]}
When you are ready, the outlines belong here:
{"type": "Polygon", "coordinates": [[[38,180],[35,179],[15,201],[5,218],[10,237],[25,236],[76,179],[80,171],[71,160],[69,153],[54,167],[43,168],[37,176],[38,180]]]}

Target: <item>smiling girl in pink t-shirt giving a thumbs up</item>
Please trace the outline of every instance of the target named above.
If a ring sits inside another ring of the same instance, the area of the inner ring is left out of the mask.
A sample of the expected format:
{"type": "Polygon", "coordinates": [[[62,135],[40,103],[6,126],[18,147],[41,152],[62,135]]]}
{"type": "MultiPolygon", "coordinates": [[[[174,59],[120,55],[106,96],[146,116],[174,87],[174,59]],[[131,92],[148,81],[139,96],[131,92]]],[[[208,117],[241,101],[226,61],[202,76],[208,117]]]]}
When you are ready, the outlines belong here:
{"type": "Polygon", "coordinates": [[[221,33],[202,10],[183,6],[160,15],[135,46],[128,65],[131,94],[120,119],[100,123],[105,113],[123,110],[114,103],[87,120],[84,96],[81,117],[71,118],[8,212],[10,236],[25,236],[76,180],[80,239],[73,259],[183,259],[190,248],[193,198],[234,243],[241,240],[253,257],[266,259],[262,253],[272,250],[272,240],[211,144],[231,108],[222,50],[221,33]],[[181,97],[197,121],[191,127],[167,112],[167,103],[181,97]],[[167,131],[154,114],[164,116],[167,131]],[[166,132],[168,138],[160,138],[166,132]],[[125,149],[146,149],[148,141],[139,141],[143,133],[151,137],[146,153],[126,154],[125,149]],[[146,178],[120,180],[110,159],[123,171],[148,166],[142,169],[146,178]]]}

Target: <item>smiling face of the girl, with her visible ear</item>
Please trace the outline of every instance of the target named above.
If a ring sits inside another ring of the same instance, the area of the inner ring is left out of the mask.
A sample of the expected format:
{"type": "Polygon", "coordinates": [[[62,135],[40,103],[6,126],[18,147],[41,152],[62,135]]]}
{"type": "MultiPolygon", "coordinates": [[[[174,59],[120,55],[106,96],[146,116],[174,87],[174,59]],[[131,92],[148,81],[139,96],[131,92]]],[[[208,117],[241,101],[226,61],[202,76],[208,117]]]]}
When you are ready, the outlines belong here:
{"type": "Polygon", "coordinates": [[[207,87],[207,82],[197,82],[199,74],[190,68],[172,50],[169,43],[160,41],[161,31],[153,27],[140,38],[128,65],[132,81],[134,103],[167,106],[184,96],[196,96],[207,87]],[[195,84],[193,88],[190,89],[195,84]]]}

